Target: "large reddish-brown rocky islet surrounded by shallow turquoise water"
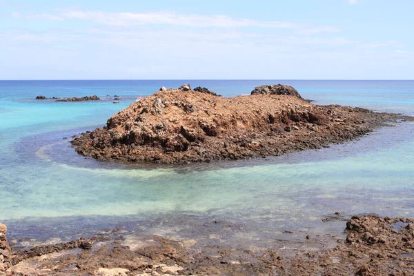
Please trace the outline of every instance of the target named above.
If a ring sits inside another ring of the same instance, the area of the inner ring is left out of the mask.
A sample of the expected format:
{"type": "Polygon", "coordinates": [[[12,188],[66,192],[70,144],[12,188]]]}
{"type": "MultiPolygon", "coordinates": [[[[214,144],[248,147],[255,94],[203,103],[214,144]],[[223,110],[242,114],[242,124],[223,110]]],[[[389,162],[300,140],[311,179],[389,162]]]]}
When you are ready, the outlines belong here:
{"type": "Polygon", "coordinates": [[[365,135],[387,121],[412,120],[362,108],[317,106],[290,86],[259,86],[225,98],[207,88],[161,88],[72,140],[101,161],[188,164],[284,155],[365,135]]]}

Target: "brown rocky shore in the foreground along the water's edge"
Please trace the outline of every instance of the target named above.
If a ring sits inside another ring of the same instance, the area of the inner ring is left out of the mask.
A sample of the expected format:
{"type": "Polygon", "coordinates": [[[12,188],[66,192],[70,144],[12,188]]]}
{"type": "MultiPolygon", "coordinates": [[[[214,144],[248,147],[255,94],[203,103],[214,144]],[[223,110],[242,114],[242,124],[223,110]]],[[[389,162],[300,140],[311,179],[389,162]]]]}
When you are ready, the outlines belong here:
{"type": "MultiPolygon", "coordinates": [[[[18,275],[414,275],[413,219],[353,217],[333,249],[197,247],[155,235],[84,239],[14,251],[18,275]],[[32,254],[36,252],[36,255],[32,254]]],[[[304,237],[304,239],[306,239],[304,237]]],[[[318,237],[306,239],[310,248],[318,237]]],[[[288,244],[286,246],[289,246],[288,244]]],[[[9,270],[10,271],[10,270],[9,270]]]]}

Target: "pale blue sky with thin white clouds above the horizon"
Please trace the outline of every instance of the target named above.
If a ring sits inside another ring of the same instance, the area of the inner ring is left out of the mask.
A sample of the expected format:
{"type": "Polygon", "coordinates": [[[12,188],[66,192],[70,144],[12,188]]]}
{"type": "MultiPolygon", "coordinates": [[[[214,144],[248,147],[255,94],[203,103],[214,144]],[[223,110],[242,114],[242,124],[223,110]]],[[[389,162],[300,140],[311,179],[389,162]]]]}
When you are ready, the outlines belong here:
{"type": "Polygon", "coordinates": [[[414,79],[412,0],[0,0],[0,79],[414,79]]]}

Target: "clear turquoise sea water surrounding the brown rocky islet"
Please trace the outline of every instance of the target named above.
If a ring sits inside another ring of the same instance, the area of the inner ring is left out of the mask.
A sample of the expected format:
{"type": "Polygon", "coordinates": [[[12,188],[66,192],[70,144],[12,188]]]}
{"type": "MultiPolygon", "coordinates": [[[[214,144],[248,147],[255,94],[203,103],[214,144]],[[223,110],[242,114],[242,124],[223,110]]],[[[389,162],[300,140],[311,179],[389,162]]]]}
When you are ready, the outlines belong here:
{"type": "MultiPolygon", "coordinates": [[[[70,239],[121,227],[178,238],[215,233],[222,243],[267,246],[286,238],[284,230],[340,236],[344,219],[360,213],[413,217],[411,123],[321,150],[180,167],[103,163],[70,148],[72,135],[103,126],[137,96],[185,82],[0,81],[0,221],[10,237],[70,239]],[[335,212],[341,215],[322,222],[335,212]]],[[[414,115],[414,81],[188,82],[226,97],[280,82],[319,104],[414,115]]]]}

